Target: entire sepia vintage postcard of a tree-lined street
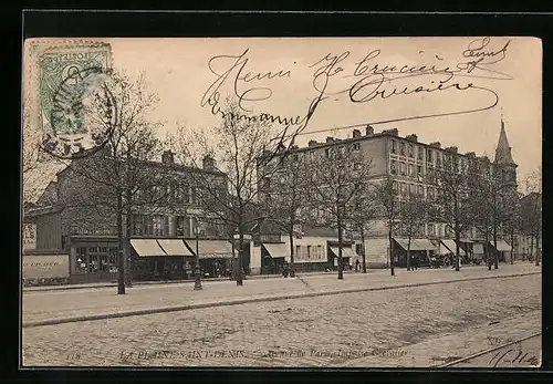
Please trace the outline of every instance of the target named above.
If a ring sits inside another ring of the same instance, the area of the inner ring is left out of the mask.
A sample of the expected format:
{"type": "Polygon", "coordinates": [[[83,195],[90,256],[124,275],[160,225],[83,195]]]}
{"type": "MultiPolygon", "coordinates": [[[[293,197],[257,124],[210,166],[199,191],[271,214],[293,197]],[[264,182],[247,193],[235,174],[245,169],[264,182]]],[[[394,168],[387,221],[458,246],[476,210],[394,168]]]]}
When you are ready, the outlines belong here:
{"type": "Polygon", "coordinates": [[[30,39],[21,366],[540,367],[536,38],[30,39]]]}

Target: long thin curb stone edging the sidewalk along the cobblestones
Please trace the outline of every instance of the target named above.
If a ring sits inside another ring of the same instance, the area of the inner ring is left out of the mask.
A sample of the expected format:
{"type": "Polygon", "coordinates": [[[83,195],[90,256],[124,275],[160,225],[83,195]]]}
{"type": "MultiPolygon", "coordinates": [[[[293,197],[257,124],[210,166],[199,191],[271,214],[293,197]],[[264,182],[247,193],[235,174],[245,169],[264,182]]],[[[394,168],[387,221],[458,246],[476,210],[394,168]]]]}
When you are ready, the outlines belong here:
{"type": "Polygon", "coordinates": [[[354,289],[346,289],[346,290],[338,289],[338,290],[331,290],[331,291],[292,293],[292,294],[285,294],[285,295],[274,295],[274,297],[225,300],[225,301],[219,301],[219,302],[207,302],[207,303],[197,303],[197,304],[189,304],[189,305],[173,305],[173,307],[152,308],[152,309],[146,309],[146,310],[135,310],[135,311],[116,312],[116,313],[102,313],[102,314],[92,314],[92,315],[80,315],[80,316],[30,321],[30,322],[23,323],[22,328],[58,325],[58,324],[73,323],[73,322],[118,319],[118,318],[127,318],[127,316],[136,316],[136,315],[155,314],[155,313],[180,312],[180,311],[187,311],[187,310],[239,305],[239,304],[248,304],[248,303],[255,303],[255,302],[270,302],[270,301],[315,298],[315,297],[344,294],[344,293],[385,291],[385,290],[390,290],[390,289],[401,289],[401,288],[410,288],[410,287],[448,284],[448,283],[460,282],[460,281],[474,281],[474,280],[487,280],[487,279],[508,279],[508,278],[518,278],[518,277],[540,274],[540,273],[541,272],[514,273],[514,274],[505,274],[505,276],[501,276],[501,277],[488,276],[488,277],[479,277],[479,278],[446,280],[446,281],[406,283],[406,284],[389,286],[389,287],[354,288],[354,289]]]}

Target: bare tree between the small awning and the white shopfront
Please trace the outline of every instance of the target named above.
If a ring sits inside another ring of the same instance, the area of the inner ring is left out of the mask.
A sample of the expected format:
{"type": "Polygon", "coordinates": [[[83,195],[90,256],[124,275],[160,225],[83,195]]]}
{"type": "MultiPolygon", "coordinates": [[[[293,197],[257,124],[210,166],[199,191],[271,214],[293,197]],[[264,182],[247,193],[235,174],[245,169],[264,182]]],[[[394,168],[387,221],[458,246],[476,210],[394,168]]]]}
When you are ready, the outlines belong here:
{"type": "Polygon", "coordinates": [[[290,274],[293,277],[294,227],[305,218],[307,174],[304,158],[300,159],[298,153],[288,153],[276,159],[276,169],[268,166],[258,168],[258,187],[265,219],[276,224],[289,236],[290,274]]]}

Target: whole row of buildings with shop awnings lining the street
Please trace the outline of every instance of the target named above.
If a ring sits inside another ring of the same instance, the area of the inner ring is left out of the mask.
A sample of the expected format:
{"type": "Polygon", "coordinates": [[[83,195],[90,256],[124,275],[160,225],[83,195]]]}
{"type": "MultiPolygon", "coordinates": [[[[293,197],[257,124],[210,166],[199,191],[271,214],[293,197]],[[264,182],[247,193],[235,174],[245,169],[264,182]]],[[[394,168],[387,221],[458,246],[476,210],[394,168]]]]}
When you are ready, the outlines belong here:
{"type": "MultiPolygon", "coordinates": [[[[420,143],[416,135],[400,137],[397,129],[375,133],[371,126],[364,133],[355,129],[347,139],[327,137],[324,143],[312,141],[306,147],[292,148],[288,155],[324,154],[332,147],[343,145],[352,145],[355,151],[369,156],[373,159],[372,179],[377,181],[393,177],[399,185],[398,194],[432,194],[435,185],[429,180],[430,170],[439,166],[445,156],[455,156],[461,165],[476,157],[474,153],[458,153],[457,147],[442,148],[440,143],[420,143]]],[[[504,175],[503,180],[510,188],[517,188],[517,164],[503,122],[495,158],[493,162],[482,159],[504,175]]],[[[209,177],[210,183],[220,186],[221,196],[227,195],[226,175],[217,170],[215,160],[206,156],[201,168],[192,168],[176,164],[173,154],[165,152],[161,162],[143,162],[142,167],[152,174],[163,170],[170,175],[170,181],[161,186],[164,199],[157,201],[155,210],[146,214],[134,211],[131,216],[129,250],[138,260],[136,278],[191,278],[196,253],[206,276],[230,273],[237,255],[232,231],[216,219],[205,219],[205,209],[197,198],[198,186],[190,183],[194,178],[189,177],[192,173],[209,177]]],[[[66,204],[75,191],[82,197],[80,201],[86,200],[87,194],[93,199],[97,190],[86,183],[90,185],[67,165],[41,164],[23,175],[25,279],[59,277],[70,282],[116,280],[118,237],[114,215],[102,215],[86,204],[66,204]]],[[[405,263],[407,241],[400,228],[394,237],[392,251],[384,222],[371,226],[366,235],[364,248],[368,268],[385,268],[390,258],[396,264],[405,263]]],[[[293,238],[296,269],[326,270],[337,266],[337,233],[334,230],[304,225],[294,228],[293,238]]],[[[452,239],[453,233],[444,224],[426,222],[411,240],[410,249],[419,258],[419,264],[425,264],[432,255],[455,252],[452,239]]],[[[507,240],[501,238],[495,249],[503,260],[511,257],[512,245],[507,240]]],[[[289,236],[274,226],[255,226],[246,242],[242,266],[249,273],[275,273],[290,261],[289,236]]],[[[515,245],[517,253],[531,252],[528,245],[521,243],[515,245]]],[[[467,261],[481,258],[484,247],[493,248],[474,228],[463,235],[460,247],[461,256],[467,261]]],[[[361,251],[359,238],[356,233],[347,233],[343,243],[345,263],[356,268],[361,251]]]]}

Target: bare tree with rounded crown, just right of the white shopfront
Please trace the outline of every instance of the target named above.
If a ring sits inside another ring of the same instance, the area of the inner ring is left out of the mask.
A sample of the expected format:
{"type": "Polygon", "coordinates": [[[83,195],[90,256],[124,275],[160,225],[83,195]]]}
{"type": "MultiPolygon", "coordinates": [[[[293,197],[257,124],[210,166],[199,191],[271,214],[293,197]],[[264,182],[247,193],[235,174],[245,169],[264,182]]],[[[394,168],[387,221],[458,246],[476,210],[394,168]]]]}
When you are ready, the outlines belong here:
{"type": "Polygon", "coordinates": [[[344,231],[353,216],[356,195],[371,177],[372,160],[353,143],[335,144],[313,152],[305,162],[309,172],[310,205],[322,222],[336,228],[338,237],[338,279],[344,279],[344,231]]]}

